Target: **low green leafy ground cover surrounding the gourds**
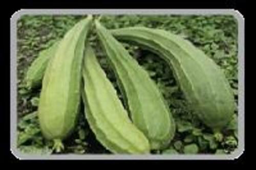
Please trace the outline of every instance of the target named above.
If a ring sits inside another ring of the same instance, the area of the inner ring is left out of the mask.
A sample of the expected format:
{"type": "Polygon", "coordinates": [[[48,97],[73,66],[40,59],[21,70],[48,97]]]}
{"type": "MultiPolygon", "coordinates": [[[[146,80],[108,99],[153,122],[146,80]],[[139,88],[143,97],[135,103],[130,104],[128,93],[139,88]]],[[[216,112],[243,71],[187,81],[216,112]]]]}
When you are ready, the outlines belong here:
{"type": "MultiPolygon", "coordinates": [[[[21,17],[17,22],[17,147],[21,152],[54,154],[51,150],[53,143],[42,137],[38,124],[36,110],[40,89],[27,92],[23,79],[29,65],[38,56],[38,53],[59,40],[83,17],[28,15],[21,17]]],[[[237,102],[238,24],[234,17],[227,15],[105,15],[102,16],[101,22],[108,29],[145,26],[164,29],[188,39],[221,66],[237,102]]],[[[94,41],[93,47],[101,66],[113,82],[122,100],[114,73],[106,62],[95,34],[90,39],[94,41]]],[[[177,132],[174,140],[166,150],[152,151],[152,154],[229,154],[238,147],[237,111],[222,135],[215,136],[188,109],[188,104],[167,64],[155,54],[138,46],[123,44],[157,83],[176,120],[177,132]]],[[[62,154],[111,154],[95,139],[82,111],[79,116],[74,133],[64,141],[65,150],[62,154]]]]}

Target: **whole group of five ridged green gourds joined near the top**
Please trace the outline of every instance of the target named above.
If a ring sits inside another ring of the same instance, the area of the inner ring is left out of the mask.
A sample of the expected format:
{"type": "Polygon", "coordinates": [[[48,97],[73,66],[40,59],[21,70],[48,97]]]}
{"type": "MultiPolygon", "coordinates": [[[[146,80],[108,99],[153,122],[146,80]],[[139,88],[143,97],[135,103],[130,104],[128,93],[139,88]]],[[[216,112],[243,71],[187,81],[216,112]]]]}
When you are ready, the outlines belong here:
{"type": "MultiPolygon", "coordinates": [[[[88,16],[42,51],[25,77],[28,90],[41,85],[39,126],[44,137],[54,142],[54,151],[65,149],[62,141],[72,135],[82,108],[83,118],[97,140],[112,153],[178,150],[166,150],[178,126],[172,109],[121,41],[135,43],[161,57],[174,72],[187,107],[222,140],[222,131],[232,121],[236,103],[229,82],[213,60],[188,40],[168,31],[145,27],[108,30],[98,19],[88,16]],[[117,78],[124,103],[90,45],[93,30],[117,78]]],[[[184,150],[194,153],[197,145],[186,145],[184,150]]]]}

